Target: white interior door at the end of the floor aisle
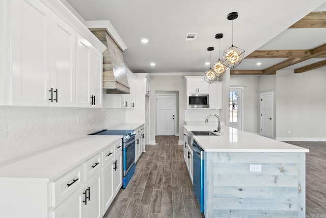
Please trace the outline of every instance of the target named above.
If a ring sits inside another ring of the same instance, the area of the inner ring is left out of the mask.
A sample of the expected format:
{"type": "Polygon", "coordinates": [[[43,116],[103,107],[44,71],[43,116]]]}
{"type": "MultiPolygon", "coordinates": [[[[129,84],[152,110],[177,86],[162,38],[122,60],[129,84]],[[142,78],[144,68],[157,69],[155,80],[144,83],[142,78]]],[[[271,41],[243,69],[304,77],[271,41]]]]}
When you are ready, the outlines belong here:
{"type": "Polygon", "coordinates": [[[156,95],[156,135],[174,135],[176,94],[156,95]]]}

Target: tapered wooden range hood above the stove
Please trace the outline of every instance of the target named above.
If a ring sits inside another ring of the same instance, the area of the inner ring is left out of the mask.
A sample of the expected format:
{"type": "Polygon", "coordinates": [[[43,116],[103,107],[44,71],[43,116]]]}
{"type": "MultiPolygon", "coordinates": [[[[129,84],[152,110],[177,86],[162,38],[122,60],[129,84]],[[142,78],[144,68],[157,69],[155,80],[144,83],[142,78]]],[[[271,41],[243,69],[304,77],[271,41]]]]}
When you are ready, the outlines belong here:
{"type": "Polygon", "coordinates": [[[103,52],[103,89],[107,94],[130,94],[122,50],[106,28],[89,29],[106,47],[103,52]]]}

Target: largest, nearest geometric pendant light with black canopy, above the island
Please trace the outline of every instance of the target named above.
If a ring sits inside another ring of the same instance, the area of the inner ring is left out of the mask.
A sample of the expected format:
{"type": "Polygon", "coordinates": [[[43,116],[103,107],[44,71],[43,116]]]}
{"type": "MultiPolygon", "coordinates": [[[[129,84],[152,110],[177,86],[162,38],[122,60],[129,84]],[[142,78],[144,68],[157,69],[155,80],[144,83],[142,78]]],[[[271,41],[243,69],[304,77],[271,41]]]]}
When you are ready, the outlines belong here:
{"type": "Polygon", "coordinates": [[[229,13],[227,16],[228,20],[232,20],[232,46],[223,53],[222,58],[223,63],[225,63],[225,65],[231,69],[234,69],[237,65],[239,65],[244,56],[244,50],[233,45],[233,20],[237,17],[237,12],[229,13]]]}

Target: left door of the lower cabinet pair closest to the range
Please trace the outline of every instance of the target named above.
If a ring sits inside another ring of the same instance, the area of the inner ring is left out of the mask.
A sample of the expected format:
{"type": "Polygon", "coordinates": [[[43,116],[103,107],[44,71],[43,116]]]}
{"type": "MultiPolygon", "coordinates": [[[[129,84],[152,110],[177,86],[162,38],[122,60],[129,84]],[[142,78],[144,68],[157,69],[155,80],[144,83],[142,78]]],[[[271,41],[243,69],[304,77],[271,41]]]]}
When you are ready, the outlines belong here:
{"type": "Polygon", "coordinates": [[[114,180],[114,162],[116,159],[107,163],[103,167],[103,214],[110,207],[111,202],[113,201],[113,180],[114,180]]]}

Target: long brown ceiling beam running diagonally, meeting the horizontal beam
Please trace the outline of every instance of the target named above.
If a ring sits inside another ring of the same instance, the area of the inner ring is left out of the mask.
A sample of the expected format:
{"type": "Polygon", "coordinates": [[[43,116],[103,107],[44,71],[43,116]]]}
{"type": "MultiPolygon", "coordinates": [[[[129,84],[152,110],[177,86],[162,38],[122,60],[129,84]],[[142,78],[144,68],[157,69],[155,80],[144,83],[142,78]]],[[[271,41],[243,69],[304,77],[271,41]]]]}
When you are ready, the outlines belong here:
{"type": "Polygon", "coordinates": [[[311,58],[316,58],[322,54],[326,54],[326,44],[315,47],[315,49],[311,50],[311,55],[305,58],[290,58],[286,61],[278,63],[274,66],[268,67],[263,70],[263,74],[276,74],[277,70],[283,69],[285,67],[309,60],[311,58]]]}

